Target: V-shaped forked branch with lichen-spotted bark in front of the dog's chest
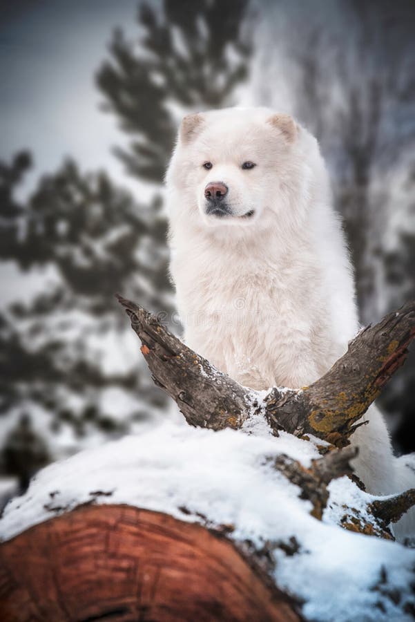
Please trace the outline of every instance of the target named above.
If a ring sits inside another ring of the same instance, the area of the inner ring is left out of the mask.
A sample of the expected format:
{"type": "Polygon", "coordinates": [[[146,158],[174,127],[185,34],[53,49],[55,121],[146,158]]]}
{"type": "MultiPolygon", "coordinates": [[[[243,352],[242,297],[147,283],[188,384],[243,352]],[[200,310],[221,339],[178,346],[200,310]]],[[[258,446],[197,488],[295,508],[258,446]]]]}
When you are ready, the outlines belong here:
{"type": "Polygon", "coordinates": [[[370,404],[403,364],[415,336],[415,301],[368,326],[318,381],[301,390],[272,388],[263,396],[216,370],[168,332],[153,315],[117,295],[142,341],[155,383],[171,395],[193,426],[240,428],[264,413],[271,428],[312,434],[338,447],[349,444],[370,404]]]}

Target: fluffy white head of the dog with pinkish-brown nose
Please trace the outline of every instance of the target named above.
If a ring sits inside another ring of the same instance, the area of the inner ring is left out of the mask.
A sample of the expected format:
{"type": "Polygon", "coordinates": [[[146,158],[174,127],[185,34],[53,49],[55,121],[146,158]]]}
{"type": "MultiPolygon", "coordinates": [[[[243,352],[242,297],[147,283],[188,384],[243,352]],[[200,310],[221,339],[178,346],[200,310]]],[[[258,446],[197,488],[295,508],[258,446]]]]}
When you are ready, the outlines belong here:
{"type": "MultiPolygon", "coordinates": [[[[184,117],[166,176],[177,209],[200,225],[252,231],[299,220],[316,140],[268,109],[225,109],[184,117]]],[[[312,168],[312,167],[311,167],[312,168]]],[[[231,234],[231,232],[228,233],[231,234]]]]}

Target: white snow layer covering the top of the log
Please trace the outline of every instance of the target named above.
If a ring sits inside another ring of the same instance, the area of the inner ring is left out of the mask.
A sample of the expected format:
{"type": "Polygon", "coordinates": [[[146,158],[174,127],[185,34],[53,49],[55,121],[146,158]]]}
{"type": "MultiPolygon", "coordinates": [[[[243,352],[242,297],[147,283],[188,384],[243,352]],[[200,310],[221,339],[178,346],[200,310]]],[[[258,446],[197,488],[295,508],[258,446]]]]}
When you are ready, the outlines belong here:
{"type": "Polygon", "coordinates": [[[365,512],[372,499],[348,478],[331,483],[323,521],[314,519],[310,502],[298,498],[298,487],[273,469],[270,458],[280,453],[305,465],[318,458],[311,442],[285,433],[273,437],[262,417],[245,431],[163,422],[39,472],[26,494],[7,505],[0,538],[91,500],[126,503],[209,527],[233,525],[229,537],[236,543],[251,540],[258,549],[268,541],[276,560],[273,578],[305,601],[307,619],[411,619],[402,607],[414,602],[409,584],[415,551],[338,527],[342,503],[365,512]],[[299,550],[287,555],[278,545],[292,536],[299,550]],[[398,605],[388,596],[392,590],[402,594],[398,605]]]}

